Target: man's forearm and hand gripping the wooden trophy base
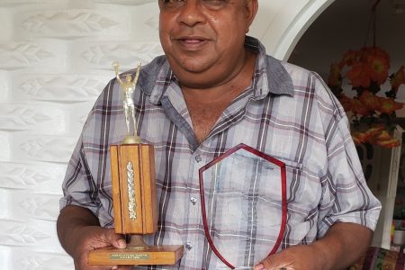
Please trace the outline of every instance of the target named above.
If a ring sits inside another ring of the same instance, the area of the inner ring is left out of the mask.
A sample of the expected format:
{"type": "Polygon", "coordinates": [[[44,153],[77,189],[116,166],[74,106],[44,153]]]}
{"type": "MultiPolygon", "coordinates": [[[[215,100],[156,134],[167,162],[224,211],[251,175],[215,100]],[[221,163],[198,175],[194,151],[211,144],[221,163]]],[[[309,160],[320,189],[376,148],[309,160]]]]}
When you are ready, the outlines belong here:
{"type": "Polygon", "coordinates": [[[130,266],[87,266],[88,253],[96,248],[125,248],[126,243],[114,229],[100,227],[94,214],[82,207],[67,206],[58,217],[58,238],[73,257],[76,270],[130,269],[130,266]]]}

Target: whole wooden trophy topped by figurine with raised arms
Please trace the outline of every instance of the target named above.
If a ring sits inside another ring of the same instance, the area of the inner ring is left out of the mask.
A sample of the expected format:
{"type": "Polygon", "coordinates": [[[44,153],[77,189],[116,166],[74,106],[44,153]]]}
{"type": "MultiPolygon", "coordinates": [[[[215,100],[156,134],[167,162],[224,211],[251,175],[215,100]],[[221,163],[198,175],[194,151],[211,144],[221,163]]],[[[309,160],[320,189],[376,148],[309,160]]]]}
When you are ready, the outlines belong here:
{"type": "Polygon", "coordinates": [[[139,77],[140,64],[132,78],[121,79],[118,63],[113,64],[123,92],[127,135],[120,145],[110,147],[112,203],[115,232],[130,238],[124,249],[104,247],[89,253],[93,266],[175,265],[183,255],[183,246],[148,246],[143,235],[157,231],[154,147],[141,142],[132,94],[139,77]],[[132,124],[133,132],[130,132],[132,124]]]}

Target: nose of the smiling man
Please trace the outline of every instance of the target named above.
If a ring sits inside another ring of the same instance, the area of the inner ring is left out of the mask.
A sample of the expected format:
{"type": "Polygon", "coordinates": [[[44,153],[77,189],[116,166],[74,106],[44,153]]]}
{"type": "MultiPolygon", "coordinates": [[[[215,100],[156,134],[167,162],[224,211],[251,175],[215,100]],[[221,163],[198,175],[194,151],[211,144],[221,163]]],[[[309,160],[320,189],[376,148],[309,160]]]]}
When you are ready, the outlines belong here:
{"type": "Polygon", "coordinates": [[[184,23],[187,26],[195,26],[196,24],[205,23],[205,15],[202,11],[203,7],[201,0],[185,1],[181,13],[178,16],[179,23],[184,23]]]}

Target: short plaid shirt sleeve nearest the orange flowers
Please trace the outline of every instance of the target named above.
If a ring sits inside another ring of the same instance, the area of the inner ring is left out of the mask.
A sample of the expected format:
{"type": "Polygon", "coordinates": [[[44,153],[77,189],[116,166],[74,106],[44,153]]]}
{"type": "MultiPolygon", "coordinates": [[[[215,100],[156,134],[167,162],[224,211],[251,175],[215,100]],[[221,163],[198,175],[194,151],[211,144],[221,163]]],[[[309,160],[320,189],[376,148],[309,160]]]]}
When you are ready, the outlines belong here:
{"type": "Polygon", "coordinates": [[[361,224],[375,229],[381,203],[365,183],[365,176],[348,128],[347,117],[337,121],[327,138],[328,173],[324,176],[318,237],[336,222],[361,224]]]}

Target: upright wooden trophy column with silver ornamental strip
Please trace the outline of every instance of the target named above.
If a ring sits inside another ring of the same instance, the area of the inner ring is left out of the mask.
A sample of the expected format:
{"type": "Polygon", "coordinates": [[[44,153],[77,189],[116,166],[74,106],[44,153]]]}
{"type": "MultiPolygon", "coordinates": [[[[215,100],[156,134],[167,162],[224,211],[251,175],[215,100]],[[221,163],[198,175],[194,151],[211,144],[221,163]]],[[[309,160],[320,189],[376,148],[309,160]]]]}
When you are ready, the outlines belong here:
{"type": "Polygon", "coordinates": [[[154,148],[112,145],[112,198],[115,232],[149,234],[157,230],[154,148]],[[142,180],[142,181],[140,181],[142,180]]]}

